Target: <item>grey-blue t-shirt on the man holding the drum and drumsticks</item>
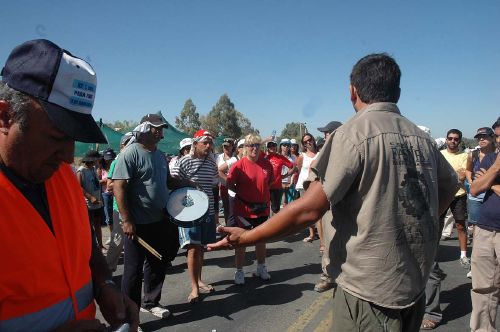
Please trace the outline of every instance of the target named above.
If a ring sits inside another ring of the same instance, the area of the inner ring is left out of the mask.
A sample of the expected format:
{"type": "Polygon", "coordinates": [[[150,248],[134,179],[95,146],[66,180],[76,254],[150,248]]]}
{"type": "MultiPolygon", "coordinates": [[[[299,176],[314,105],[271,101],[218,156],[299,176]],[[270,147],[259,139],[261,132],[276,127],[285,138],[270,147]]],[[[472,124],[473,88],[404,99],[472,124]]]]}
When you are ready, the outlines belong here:
{"type": "Polygon", "coordinates": [[[134,223],[150,224],[164,218],[169,197],[168,165],[160,150],[148,151],[135,143],[120,152],[113,180],[127,180],[127,202],[134,223]]]}

